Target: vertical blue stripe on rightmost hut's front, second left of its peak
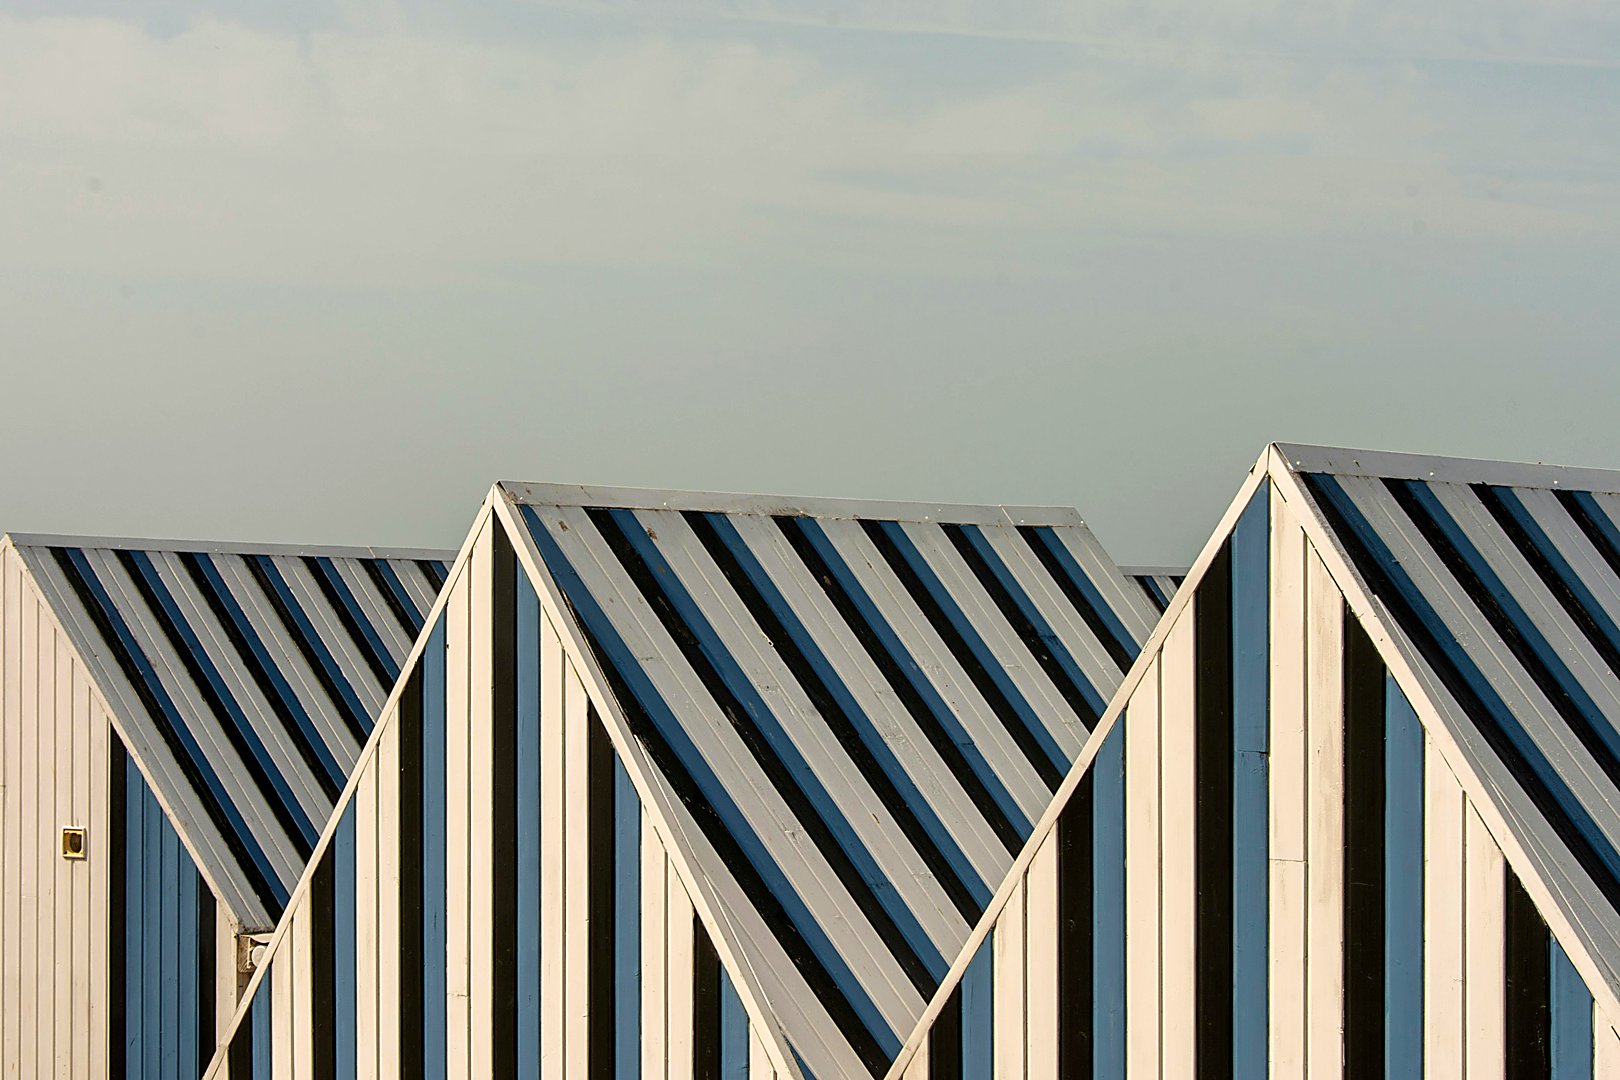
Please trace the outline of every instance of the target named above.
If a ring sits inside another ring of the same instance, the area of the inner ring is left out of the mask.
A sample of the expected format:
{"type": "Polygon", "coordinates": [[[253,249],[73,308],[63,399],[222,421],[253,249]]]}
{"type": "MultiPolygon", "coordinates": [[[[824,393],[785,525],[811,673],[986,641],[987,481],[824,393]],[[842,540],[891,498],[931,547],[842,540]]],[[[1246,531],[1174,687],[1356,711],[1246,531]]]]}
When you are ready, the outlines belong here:
{"type": "Polygon", "coordinates": [[[1124,722],[1092,761],[1092,1075],[1124,1075],[1124,722]]]}

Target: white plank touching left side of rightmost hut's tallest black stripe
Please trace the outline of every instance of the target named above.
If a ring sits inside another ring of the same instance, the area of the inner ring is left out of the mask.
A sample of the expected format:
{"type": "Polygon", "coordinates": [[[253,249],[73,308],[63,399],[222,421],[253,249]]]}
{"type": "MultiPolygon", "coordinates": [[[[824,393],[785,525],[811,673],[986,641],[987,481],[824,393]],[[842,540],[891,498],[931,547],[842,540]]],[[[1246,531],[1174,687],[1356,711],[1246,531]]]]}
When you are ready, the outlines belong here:
{"type": "MultiPolygon", "coordinates": [[[[1194,597],[1194,604],[1197,597],[1194,597]]],[[[1197,755],[1194,732],[1194,604],[1165,636],[1160,656],[1162,1075],[1192,1077],[1197,1041],[1197,755]]],[[[1131,740],[1126,738],[1126,753],[1131,740]]],[[[1126,793],[1129,798],[1129,790],[1126,793]]],[[[1129,1017],[1126,1018],[1129,1023],[1129,1017]]]]}

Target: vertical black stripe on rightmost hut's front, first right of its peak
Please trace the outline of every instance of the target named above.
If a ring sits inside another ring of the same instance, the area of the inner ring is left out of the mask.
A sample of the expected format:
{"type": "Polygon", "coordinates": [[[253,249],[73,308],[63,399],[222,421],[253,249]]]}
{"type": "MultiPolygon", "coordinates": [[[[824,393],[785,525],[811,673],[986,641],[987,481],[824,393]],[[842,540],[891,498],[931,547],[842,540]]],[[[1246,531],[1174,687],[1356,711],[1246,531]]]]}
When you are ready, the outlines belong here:
{"type": "Polygon", "coordinates": [[[1383,1077],[1385,670],[1361,620],[1345,627],[1345,1075],[1383,1077]]]}

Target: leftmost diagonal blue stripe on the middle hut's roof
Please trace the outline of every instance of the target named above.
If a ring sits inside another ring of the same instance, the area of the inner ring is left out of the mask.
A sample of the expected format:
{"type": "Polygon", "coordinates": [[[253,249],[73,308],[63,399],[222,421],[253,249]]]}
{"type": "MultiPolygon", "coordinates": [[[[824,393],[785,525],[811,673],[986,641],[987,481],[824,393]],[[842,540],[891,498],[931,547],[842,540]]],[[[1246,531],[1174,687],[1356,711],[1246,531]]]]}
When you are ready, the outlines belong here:
{"type": "Polygon", "coordinates": [[[596,638],[606,661],[619,672],[637,703],[648,714],[653,724],[658,725],[659,732],[669,742],[671,751],[674,751],[682,767],[692,777],[692,782],[710,801],[711,810],[724,824],[727,834],[742,848],[748,865],[760,874],[766,889],[770,889],[771,895],[782,905],[782,910],[787,913],[787,920],[792,923],[794,929],[838,984],[839,993],[844,994],[850,1009],[857,1017],[860,1017],[860,1022],[872,1033],[873,1040],[878,1041],[880,1048],[886,1054],[893,1056],[899,1052],[901,1036],[888,1025],[883,1014],[878,1012],[878,1007],[872,1002],[872,997],[867,996],[860,980],[844,962],[842,955],[839,955],[821,925],[810,915],[810,910],[804,904],[804,897],[797,889],[794,889],[792,882],[782,873],[781,866],[776,865],[776,860],[771,858],[765,844],[748,824],[748,819],[737,808],[737,803],[732,801],[726,785],[721,784],[719,777],[716,777],[713,769],[710,769],[708,761],[705,761],[703,755],[698,753],[695,745],[692,745],[685,729],[680,727],[680,722],[676,719],[674,712],[671,712],[669,704],[658,695],[658,690],[653,687],[646,672],[624,644],[624,640],[619,638],[619,631],[596,604],[590,589],[586,589],[585,583],[580,581],[578,575],[573,572],[573,565],[562,554],[562,549],[557,547],[556,539],[546,529],[539,515],[530,505],[522,507],[522,510],[523,520],[535,539],[535,546],[539,549],[548,570],[551,570],[551,576],[569,597],[575,615],[585,625],[586,631],[596,638]]]}

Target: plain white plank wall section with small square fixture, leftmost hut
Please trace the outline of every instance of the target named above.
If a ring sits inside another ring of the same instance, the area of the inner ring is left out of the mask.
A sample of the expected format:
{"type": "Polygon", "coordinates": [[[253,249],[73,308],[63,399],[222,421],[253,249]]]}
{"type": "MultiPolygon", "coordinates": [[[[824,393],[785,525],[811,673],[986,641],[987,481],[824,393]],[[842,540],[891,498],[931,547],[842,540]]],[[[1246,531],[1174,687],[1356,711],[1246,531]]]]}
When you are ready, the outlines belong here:
{"type": "Polygon", "coordinates": [[[0,544],[0,1075],[105,1077],[107,708],[0,544]],[[87,832],[62,858],[62,829],[87,832]]]}

